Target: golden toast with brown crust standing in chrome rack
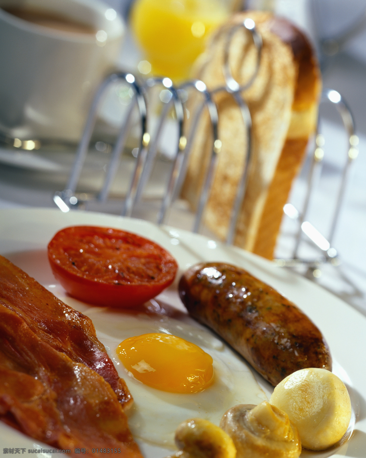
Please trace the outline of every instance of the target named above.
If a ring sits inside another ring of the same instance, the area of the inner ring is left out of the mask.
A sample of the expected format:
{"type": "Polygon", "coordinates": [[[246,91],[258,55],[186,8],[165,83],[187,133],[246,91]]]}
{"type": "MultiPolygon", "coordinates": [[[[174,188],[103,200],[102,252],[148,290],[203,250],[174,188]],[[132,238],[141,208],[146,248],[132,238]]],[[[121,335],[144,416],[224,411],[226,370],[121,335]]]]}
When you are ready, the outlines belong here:
{"type": "MultiPolygon", "coordinates": [[[[291,22],[267,12],[246,11],[231,17],[215,34],[194,65],[193,76],[208,90],[225,86],[222,72],[225,30],[251,18],[263,39],[253,84],[242,93],[252,116],[252,161],[237,221],[234,244],[272,259],[291,183],[315,131],[321,78],[307,38],[291,22]]],[[[250,33],[240,30],[231,40],[229,62],[234,78],[244,85],[255,71],[257,51],[250,33]]],[[[245,161],[246,138],[242,115],[231,94],[216,93],[222,147],[206,205],[205,224],[224,239],[245,161]]],[[[193,100],[192,107],[197,102],[193,100]]],[[[212,147],[205,114],[192,147],[182,197],[197,206],[212,147]]]]}

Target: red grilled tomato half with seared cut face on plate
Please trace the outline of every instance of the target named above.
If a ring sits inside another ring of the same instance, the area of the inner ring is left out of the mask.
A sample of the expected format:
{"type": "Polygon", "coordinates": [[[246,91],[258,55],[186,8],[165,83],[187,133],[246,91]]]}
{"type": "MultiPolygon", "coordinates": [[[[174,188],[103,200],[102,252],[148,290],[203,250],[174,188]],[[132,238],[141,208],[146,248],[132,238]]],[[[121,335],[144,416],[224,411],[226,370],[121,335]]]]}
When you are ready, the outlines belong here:
{"type": "Polygon", "coordinates": [[[72,226],[48,244],[56,279],[89,304],[133,307],[169,286],[178,269],[160,245],[120,229],[72,226]]]}

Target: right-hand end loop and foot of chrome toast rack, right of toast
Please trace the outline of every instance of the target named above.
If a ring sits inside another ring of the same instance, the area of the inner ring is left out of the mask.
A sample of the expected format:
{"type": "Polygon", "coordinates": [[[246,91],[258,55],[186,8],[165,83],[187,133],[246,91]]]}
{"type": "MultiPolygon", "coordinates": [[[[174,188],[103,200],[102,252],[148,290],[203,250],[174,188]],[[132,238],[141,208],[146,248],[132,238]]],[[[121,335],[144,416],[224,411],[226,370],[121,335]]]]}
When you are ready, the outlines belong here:
{"type": "Polygon", "coordinates": [[[350,165],[358,156],[357,145],[359,140],[358,136],[355,135],[355,122],[353,120],[353,116],[346,102],[344,101],[344,98],[339,94],[339,92],[335,91],[334,89],[324,89],[320,103],[324,104],[329,102],[335,106],[335,108],[341,116],[344,125],[344,130],[346,131],[348,136],[348,146],[346,163],[342,171],[342,177],[340,180],[335,210],[333,218],[331,220],[328,238],[324,237],[323,234],[321,234],[309,221],[306,220],[312,191],[314,190],[315,186],[316,169],[320,166],[324,158],[324,137],[322,135],[319,135],[318,128],[315,140],[316,145],[312,155],[312,163],[307,177],[307,192],[304,200],[304,206],[302,208],[301,213],[298,212],[294,207],[291,209],[290,213],[288,212],[288,216],[292,217],[293,219],[297,219],[299,224],[299,229],[296,235],[295,248],[291,259],[276,260],[280,266],[292,267],[299,264],[304,264],[314,270],[318,268],[319,265],[323,262],[331,262],[334,265],[338,265],[339,263],[337,257],[337,250],[333,246],[334,234],[339,223],[339,216],[342,204],[344,203],[344,194],[346,190],[348,176],[350,173],[350,165]],[[312,241],[312,243],[320,250],[320,252],[322,253],[321,258],[312,260],[304,260],[299,258],[298,253],[301,241],[303,240],[303,234],[306,234],[307,237],[312,241]]]}

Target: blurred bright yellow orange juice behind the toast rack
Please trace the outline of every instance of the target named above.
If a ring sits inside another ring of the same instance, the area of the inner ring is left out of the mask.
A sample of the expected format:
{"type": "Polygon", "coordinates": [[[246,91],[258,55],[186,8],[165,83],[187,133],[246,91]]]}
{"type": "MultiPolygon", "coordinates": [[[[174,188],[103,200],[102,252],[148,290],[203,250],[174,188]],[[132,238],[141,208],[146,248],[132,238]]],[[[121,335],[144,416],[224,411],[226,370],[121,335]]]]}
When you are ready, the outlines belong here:
{"type": "Polygon", "coordinates": [[[220,0],[137,0],[131,25],[152,73],[180,81],[227,16],[220,0]]]}

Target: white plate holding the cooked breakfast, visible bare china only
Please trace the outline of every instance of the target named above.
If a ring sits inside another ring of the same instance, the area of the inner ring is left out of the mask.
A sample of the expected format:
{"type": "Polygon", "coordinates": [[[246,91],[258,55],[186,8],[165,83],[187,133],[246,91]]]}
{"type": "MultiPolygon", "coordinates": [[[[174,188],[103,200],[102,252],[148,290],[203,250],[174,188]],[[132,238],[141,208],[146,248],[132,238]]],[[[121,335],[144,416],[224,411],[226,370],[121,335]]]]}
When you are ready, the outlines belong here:
{"type": "MultiPolygon", "coordinates": [[[[326,290],[286,269],[236,247],[221,245],[180,229],[157,227],[146,221],[99,213],[61,213],[51,209],[6,209],[0,211],[0,253],[21,267],[56,295],[65,294],[56,284],[47,261],[47,244],[56,231],[75,224],[92,224],[127,229],[141,234],[169,250],[179,263],[179,274],[196,262],[223,261],[237,264],[294,301],[320,328],[335,361],[334,371],[346,382],[355,412],[350,440],[324,453],[303,452],[301,456],[366,456],[366,319],[326,290]],[[55,285],[51,286],[50,285],[55,285]]],[[[181,308],[176,283],[161,299],[181,308]]],[[[84,307],[85,308],[85,307],[84,307]]],[[[94,325],[98,330],[97,318],[94,325]]],[[[260,376],[265,391],[269,385],[260,376]]],[[[42,444],[39,444],[42,446],[42,444]]],[[[0,447],[38,448],[38,444],[6,425],[0,424],[0,447]]],[[[49,448],[49,446],[43,446],[49,448]]],[[[2,451],[0,449],[0,451],[2,451]]],[[[170,451],[142,446],[148,458],[162,458],[170,451]]],[[[21,451],[22,452],[22,451],[21,451]]],[[[171,453],[171,452],[170,452],[171,453]]],[[[33,455],[34,456],[34,455],[33,455]]],[[[38,454],[46,458],[53,454],[38,454]]],[[[59,457],[60,455],[54,455],[59,457]]]]}

